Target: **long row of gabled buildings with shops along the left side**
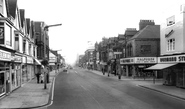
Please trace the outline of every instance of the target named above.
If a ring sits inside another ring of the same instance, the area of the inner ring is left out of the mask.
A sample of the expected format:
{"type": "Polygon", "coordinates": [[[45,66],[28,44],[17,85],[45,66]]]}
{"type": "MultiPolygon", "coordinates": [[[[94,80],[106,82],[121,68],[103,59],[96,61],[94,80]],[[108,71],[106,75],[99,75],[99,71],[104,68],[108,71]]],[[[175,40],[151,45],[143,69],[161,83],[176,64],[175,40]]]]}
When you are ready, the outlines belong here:
{"type": "Polygon", "coordinates": [[[36,49],[32,21],[17,0],[0,1],[0,96],[35,76],[36,49]]]}

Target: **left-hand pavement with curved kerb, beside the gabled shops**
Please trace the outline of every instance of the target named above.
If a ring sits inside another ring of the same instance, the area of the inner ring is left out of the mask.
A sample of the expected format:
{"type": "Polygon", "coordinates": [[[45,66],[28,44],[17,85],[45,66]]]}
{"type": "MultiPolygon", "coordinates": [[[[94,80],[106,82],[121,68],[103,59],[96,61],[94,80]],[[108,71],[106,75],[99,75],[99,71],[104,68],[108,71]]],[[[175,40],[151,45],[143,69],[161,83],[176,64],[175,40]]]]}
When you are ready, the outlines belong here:
{"type": "Polygon", "coordinates": [[[30,109],[48,105],[52,99],[52,84],[57,74],[55,70],[50,72],[50,83],[47,83],[46,89],[44,89],[43,83],[37,84],[36,78],[25,83],[20,88],[0,99],[0,109],[30,109]]]}

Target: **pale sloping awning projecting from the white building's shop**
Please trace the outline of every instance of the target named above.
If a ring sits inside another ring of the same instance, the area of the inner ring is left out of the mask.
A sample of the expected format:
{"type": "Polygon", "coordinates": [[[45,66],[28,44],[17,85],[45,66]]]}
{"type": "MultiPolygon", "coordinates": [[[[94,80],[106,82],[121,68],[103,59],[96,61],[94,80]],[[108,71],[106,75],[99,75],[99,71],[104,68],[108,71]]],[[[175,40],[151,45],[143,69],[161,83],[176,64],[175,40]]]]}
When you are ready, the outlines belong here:
{"type": "Polygon", "coordinates": [[[173,63],[173,64],[156,64],[153,65],[151,67],[146,68],[145,70],[162,70],[165,68],[168,68],[170,66],[176,65],[177,63],[173,63]]]}

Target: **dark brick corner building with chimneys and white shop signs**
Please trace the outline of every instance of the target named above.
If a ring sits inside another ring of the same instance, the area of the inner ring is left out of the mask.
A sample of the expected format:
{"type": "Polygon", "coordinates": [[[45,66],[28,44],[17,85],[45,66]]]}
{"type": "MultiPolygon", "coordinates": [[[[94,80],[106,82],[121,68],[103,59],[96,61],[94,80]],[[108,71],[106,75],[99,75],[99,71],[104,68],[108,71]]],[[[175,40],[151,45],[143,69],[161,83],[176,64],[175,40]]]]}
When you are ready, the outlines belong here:
{"type": "MultiPolygon", "coordinates": [[[[126,57],[120,59],[124,76],[143,77],[152,75],[144,69],[155,65],[160,55],[160,26],[153,20],[140,20],[140,30],[126,40],[126,57]]],[[[127,37],[127,36],[125,36],[127,37]]]]}

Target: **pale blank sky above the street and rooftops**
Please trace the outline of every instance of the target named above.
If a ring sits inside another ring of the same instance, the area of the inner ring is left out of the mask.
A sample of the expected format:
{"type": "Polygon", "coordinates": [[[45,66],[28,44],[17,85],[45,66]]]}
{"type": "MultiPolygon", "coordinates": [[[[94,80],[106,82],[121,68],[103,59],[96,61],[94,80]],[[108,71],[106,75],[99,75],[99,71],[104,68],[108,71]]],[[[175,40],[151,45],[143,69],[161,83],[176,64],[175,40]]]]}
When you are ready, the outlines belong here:
{"type": "Polygon", "coordinates": [[[44,21],[49,28],[49,46],[72,64],[84,54],[88,41],[117,37],[126,28],[139,27],[139,21],[154,20],[160,25],[163,10],[184,0],[18,0],[25,17],[44,21]]]}

